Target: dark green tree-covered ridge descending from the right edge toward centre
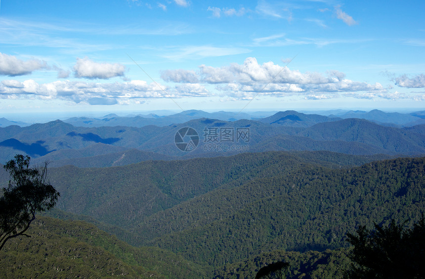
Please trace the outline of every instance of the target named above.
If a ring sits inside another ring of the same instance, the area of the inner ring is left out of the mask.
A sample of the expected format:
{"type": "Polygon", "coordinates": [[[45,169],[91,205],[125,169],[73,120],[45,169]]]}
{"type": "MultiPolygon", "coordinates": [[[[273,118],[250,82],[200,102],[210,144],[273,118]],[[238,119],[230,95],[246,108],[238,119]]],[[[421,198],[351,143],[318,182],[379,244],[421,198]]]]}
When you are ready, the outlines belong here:
{"type": "Polygon", "coordinates": [[[140,232],[156,236],[150,245],[214,266],[279,248],[337,248],[358,224],[417,219],[425,208],[424,173],[424,158],[348,170],[300,166],[158,212],[140,232]]]}

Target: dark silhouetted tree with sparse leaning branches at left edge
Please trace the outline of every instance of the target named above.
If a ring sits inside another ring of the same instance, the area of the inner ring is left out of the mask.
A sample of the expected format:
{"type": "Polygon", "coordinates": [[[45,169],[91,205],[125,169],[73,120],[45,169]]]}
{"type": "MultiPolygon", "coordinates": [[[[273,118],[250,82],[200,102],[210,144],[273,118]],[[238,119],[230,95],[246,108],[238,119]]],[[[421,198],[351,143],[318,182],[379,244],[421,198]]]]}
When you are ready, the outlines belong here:
{"type": "Polygon", "coordinates": [[[46,178],[47,162],[42,167],[30,167],[30,157],[16,155],[4,168],[9,172],[9,186],[0,198],[0,250],[4,243],[25,232],[36,212],[53,208],[60,196],[46,178]]]}

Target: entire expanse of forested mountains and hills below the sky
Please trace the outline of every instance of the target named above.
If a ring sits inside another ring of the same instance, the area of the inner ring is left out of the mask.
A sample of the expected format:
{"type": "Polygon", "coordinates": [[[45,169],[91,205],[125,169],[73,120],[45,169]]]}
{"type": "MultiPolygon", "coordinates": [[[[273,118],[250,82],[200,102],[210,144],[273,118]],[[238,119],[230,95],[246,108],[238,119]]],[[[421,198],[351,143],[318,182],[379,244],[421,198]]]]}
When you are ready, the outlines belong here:
{"type": "MultiPolygon", "coordinates": [[[[290,278],[341,278],[348,232],[423,213],[421,112],[247,118],[188,111],[0,127],[0,163],[48,160],[61,193],[33,238],[0,251],[0,277],[254,278],[286,261],[290,278]],[[187,127],[199,139],[190,152],[175,144],[187,127]],[[248,137],[225,141],[221,129],[248,137]]],[[[8,179],[1,166],[0,186],[8,179]]]]}

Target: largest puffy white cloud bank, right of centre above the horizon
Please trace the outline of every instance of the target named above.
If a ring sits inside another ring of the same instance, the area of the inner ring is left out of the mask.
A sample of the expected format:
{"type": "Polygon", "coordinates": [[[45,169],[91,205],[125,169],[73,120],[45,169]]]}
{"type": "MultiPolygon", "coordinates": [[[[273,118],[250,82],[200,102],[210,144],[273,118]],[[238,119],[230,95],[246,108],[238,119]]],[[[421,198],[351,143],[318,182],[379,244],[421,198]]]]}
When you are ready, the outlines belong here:
{"type": "MultiPolygon", "coordinates": [[[[318,72],[301,73],[289,67],[265,62],[259,64],[254,57],[248,57],[242,64],[232,63],[224,67],[200,65],[198,70],[169,70],[161,76],[166,81],[185,84],[215,84],[215,89],[222,95],[239,99],[254,97],[258,93],[271,96],[305,95],[308,99],[326,99],[343,93],[358,92],[361,98],[365,93],[374,96],[389,95],[381,83],[353,81],[345,74],[330,70],[326,74],[318,72]],[[381,94],[381,95],[378,95],[381,94]]],[[[385,98],[386,98],[385,97],[385,98]]]]}

